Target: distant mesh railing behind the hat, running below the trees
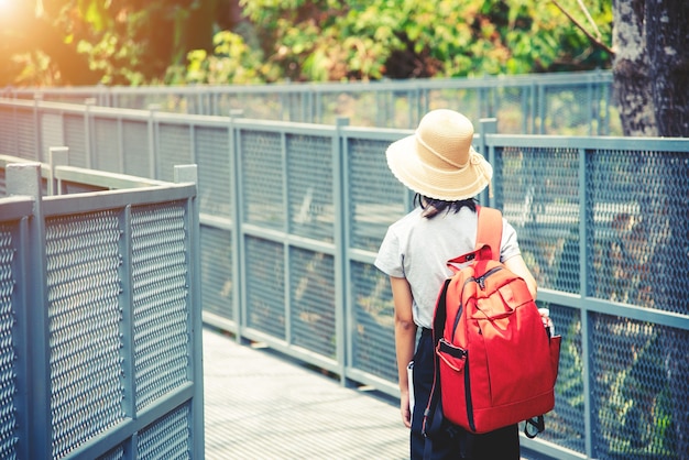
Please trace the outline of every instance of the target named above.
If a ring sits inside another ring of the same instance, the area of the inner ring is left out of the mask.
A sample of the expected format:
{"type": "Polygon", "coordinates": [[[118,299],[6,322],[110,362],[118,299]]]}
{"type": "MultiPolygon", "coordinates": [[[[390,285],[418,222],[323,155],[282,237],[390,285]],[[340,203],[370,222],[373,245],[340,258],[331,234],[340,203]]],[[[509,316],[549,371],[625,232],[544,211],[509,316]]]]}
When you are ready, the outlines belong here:
{"type": "Polygon", "coordinates": [[[9,88],[14,98],[259,120],[412,129],[431,109],[497,118],[505,134],[619,135],[612,73],[176,87],[9,88]]]}

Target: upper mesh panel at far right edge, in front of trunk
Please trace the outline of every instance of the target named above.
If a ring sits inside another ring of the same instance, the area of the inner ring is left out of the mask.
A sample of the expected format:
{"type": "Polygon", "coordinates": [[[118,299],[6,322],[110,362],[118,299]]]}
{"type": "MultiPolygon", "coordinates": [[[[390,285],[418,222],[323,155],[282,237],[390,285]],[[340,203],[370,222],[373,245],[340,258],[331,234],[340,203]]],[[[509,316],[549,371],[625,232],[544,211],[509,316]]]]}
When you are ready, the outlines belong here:
{"type": "Polygon", "coordinates": [[[689,157],[599,151],[587,167],[590,295],[689,314],[689,157]]]}

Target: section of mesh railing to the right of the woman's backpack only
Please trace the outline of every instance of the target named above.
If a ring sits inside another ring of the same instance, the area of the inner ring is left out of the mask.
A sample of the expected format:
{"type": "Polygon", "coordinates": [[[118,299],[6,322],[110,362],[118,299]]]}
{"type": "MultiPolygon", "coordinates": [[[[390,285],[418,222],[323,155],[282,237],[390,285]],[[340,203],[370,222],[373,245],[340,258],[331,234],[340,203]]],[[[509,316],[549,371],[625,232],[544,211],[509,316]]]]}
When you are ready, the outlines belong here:
{"type": "Polygon", "coordinates": [[[539,302],[562,333],[543,438],[584,453],[590,437],[597,458],[682,458],[689,361],[678,350],[689,332],[654,310],[689,313],[689,157],[622,143],[515,147],[503,139],[497,205],[539,288],[562,292],[539,302]],[[568,293],[581,303],[565,303],[568,293]]]}

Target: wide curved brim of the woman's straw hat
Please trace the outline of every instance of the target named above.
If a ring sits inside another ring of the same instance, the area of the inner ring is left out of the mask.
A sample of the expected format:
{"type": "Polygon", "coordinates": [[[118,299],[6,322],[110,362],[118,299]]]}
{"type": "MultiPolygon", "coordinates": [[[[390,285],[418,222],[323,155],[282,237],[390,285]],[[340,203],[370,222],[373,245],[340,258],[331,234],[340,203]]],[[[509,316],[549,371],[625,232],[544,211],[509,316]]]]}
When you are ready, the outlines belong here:
{"type": "Polygon", "coordinates": [[[416,146],[416,136],[412,134],[390,144],[385,156],[397,180],[425,197],[445,201],[473,198],[493,177],[493,167],[473,147],[466,166],[444,171],[423,163],[416,146]]]}

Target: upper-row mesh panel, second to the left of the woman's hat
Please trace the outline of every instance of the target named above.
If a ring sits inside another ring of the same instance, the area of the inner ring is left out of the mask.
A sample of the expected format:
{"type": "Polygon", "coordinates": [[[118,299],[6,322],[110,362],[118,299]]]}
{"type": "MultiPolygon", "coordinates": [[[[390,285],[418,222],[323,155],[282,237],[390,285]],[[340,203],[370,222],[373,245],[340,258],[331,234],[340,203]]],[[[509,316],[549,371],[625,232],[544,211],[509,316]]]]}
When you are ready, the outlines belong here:
{"type": "Polygon", "coordinates": [[[332,138],[287,136],[291,231],[333,240],[332,138]]]}

